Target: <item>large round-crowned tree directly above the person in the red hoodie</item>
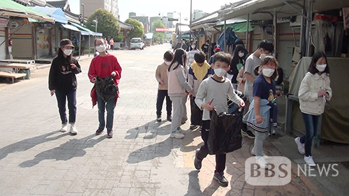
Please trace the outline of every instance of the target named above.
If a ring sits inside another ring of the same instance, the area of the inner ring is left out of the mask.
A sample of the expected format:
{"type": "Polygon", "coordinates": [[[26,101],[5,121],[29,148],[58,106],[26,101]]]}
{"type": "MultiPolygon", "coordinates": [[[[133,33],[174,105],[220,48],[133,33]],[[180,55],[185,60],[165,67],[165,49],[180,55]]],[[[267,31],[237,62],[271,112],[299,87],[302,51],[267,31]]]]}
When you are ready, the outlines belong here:
{"type": "Polygon", "coordinates": [[[96,10],[87,20],[87,28],[91,31],[95,31],[96,27],[92,27],[92,25],[96,25],[94,20],[98,21],[97,23],[97,32],[103,33],[103,36],[111,36],[117,37],[120,32],[120,26],[117,22],[117,18],[112,15],[108,10],[103,8],[99,8],[96,10]]]}

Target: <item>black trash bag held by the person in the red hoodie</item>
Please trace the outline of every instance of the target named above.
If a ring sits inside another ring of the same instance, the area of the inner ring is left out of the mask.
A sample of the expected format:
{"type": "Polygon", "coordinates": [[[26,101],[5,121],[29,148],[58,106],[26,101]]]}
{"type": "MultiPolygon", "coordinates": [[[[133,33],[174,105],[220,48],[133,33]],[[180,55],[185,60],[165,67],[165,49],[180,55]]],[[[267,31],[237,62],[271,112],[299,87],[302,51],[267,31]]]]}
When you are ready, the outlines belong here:
{"type": "Polygon", "coordinates": [[[96,77],[96,83],[94,84],[97,95],[104,101],[107,102],[117,96],[119,87],[114,83],[112,76],[108,77],[96,77]]]}

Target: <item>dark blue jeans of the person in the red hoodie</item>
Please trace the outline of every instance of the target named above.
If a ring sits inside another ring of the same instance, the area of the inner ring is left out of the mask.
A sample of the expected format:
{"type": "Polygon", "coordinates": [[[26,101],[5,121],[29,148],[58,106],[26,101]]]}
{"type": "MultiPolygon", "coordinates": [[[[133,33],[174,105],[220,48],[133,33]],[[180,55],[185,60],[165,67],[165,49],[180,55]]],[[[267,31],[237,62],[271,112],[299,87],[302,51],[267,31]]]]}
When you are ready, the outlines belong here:
{"type": "Polygon", "coordinates": [[[107,130],[112,130],[112,123],[114,120],[114,108],[115,108],[115,100],[112,98],[111,100],[108,100],[106,103],[102,98],[100,98],[97,95],[97,104],[98,104],[98,121],[99,121],[99,128],[105,127],[105,104],[107,108],[107,130]]]}

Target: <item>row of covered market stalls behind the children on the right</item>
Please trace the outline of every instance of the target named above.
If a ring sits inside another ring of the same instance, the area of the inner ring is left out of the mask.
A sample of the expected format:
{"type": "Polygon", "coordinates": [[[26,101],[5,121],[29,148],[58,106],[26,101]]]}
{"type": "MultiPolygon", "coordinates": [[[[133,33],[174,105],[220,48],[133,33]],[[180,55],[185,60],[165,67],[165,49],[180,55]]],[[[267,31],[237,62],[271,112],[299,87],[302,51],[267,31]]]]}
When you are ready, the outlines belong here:
{"type": "Polygon", "coordinates": [[[210,40],[231,54],[237,38],[248,53],[262,40],[274,44],[285,76],[287,132],[305,133],[298,89],[311,56],[325,52],[334,93],[322,116],[321,137],[349,144],[349,91],[344,90],[349,84],[348,7],[347,0],[242,0],[194,20],[191,31],[200,46],[210,40]]]}

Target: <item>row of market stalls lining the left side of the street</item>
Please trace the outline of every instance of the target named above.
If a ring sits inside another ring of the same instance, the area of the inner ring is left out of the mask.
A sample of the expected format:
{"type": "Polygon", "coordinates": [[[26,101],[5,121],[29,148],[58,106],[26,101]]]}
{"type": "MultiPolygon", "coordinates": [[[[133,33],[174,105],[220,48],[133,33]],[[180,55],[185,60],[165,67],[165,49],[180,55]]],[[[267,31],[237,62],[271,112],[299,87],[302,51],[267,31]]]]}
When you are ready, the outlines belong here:
{"type": "Polygon", "coordinates": [[[103,35],[83,27],[76,16],[61,8],[1,0],[0,59],[52,59],[63,38],[72,40],[74,55],[80,56],[90,52],[93,36],[103,35]]]}

